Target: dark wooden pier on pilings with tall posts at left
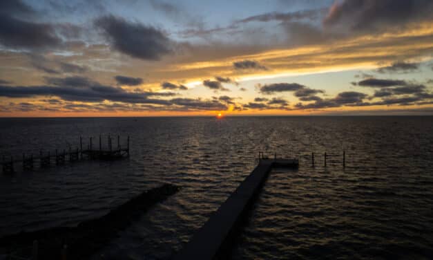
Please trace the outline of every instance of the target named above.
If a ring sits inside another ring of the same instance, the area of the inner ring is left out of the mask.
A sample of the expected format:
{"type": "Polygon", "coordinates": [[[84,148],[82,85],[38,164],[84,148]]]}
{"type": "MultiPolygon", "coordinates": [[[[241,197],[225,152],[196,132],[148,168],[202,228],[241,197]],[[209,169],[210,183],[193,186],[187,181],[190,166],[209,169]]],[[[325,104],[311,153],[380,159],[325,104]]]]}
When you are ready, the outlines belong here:
{"type": "Polygon", "coordinates": [[[89,138],[88,146],[83,149],[83,138],[79,138],[79,147],[77,149],[69,148],[68,151],[55,150],[52,154],[50,151],[39,151],[39,156],[33,154],[23,154],[22,159],[15,159],[12,156],[6,158],[2,156],[1,165],[3,174],[12,174],[21,165],[23,170],[32,170],[39,163],[40,168],[49,167],[52,163],[55,165],[64,165],[66,162],[76,162],[78,160],[117,160],[129,156],[129,136],[126,139],[126,146],[122,147],[120,136],[117,136],[117,146],[113,147],[113,138],[108,136],[108,146],[102,149],[102,136],[99,136],[99,147],[94,149],[93,138],[89,138]]]}

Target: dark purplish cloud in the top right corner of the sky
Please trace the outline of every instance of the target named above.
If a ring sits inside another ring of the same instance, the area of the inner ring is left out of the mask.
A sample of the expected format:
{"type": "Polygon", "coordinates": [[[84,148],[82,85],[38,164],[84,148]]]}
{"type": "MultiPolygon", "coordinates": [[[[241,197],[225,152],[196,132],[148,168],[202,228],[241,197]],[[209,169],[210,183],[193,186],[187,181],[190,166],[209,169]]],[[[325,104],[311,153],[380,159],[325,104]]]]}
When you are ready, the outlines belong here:
{"type": "Polygon", "coordinates": [[[343,0],[331,6],[323,24],[352,30],[381,30],[431,20],[432,11],[431,0],[343,0]]]}

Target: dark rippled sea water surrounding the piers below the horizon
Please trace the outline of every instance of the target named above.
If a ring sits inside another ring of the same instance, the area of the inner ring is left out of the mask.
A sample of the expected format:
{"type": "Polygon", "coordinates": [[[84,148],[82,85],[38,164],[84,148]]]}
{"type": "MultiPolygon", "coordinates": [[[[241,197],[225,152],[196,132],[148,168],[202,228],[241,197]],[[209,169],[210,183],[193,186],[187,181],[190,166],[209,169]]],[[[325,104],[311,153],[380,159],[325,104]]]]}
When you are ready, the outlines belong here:
{"type": "MultiPolygon", "coordinates": [[[[168,259],[256,165],[272,171],[233,259],[431,259],[433,117],[0,119],[0,155],[131,136],[131,157],[0,174],[0,236],[101,216],[144,189],[181,191],[119,232],[94,259],[168,259]],[[346,151],[346,167],[342,153],[346,151]],[[329,155],[323,166],[323,153],[329,155]],[[310,154],[316,155],[311,166],[310,154]]],[[[113,142],[115,143],[115,141],[113,142]]]]}

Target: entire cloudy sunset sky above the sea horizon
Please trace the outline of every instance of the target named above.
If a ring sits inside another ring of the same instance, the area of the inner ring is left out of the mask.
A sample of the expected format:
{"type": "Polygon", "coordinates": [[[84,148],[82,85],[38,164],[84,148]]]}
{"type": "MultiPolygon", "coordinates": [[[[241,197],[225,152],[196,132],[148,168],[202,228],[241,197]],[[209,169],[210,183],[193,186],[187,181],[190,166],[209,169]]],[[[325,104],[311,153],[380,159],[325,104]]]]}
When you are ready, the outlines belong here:
{"type": "Polygon", "coordinates": [[[431,0],[1,0],[0,116],[432,115],[431,0]]]}

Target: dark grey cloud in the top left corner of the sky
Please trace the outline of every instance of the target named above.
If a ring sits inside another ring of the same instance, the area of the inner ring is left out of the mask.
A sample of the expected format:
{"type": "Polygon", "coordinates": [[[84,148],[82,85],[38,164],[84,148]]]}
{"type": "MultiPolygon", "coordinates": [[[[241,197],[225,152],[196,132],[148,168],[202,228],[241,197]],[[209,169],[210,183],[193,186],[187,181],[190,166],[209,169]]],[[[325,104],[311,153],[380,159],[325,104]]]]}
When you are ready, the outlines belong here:
{"type": "Polygon", "coordinates": [[[24,21],[35,11],[19,0],[0,1],[0,44],[14,49],[59,46],[61,39],[51,24],[24,21]]]}

